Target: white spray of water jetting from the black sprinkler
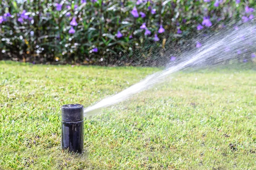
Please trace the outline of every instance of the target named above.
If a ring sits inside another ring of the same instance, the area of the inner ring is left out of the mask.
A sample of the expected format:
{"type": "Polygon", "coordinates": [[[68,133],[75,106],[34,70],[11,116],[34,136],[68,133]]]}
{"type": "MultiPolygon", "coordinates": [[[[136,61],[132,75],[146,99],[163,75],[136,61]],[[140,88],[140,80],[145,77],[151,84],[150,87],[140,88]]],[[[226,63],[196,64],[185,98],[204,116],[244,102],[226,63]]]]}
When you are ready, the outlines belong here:
{"type": "MultiPolygon", "coordinates": [[[[169,62],[166,69],[152,74],[137,84],[107,97],[95,105],[84,109],[84,116],[99,113],[102,108],[122,102],[134,94],[148,90],[155,85],[166,82],[173,74],[185,68],[201,68],[208,65],[224,65],[230,60],[237,63],[252,62],[253,52],[256,52],[256,26],[241,26],[219,31],[201,40],[202,46],[179,54],[175,62],[169,62]]],[[[171,50],[171,49],[170,49],[171,50]]]]}

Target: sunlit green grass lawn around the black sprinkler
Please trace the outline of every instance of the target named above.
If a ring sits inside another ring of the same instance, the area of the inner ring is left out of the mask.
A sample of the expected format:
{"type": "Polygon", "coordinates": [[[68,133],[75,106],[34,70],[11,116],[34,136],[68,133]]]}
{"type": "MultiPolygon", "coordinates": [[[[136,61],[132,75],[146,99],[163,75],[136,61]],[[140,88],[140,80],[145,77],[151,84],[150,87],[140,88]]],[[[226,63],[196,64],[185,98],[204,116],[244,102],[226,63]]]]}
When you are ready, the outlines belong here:
{"type": "Polygon", "coordinates": [[[256,71],[178,74],[84,120],[61,151],[61,105],[88,107],[155,68],[0,62],[0,169],[256,169],[256,71]]]}

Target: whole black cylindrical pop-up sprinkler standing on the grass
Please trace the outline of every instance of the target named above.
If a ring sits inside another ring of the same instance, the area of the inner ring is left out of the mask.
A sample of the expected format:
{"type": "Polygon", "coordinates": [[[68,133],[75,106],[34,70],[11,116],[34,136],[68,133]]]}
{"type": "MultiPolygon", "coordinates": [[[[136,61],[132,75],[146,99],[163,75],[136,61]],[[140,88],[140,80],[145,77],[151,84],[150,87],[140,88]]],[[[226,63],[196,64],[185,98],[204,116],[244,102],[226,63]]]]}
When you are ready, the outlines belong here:
{"type": "Polygon", "coordinates": [[[61,148],[82,153],[84,148],[84,106],[63,105],[61,108],[61,148]]]}

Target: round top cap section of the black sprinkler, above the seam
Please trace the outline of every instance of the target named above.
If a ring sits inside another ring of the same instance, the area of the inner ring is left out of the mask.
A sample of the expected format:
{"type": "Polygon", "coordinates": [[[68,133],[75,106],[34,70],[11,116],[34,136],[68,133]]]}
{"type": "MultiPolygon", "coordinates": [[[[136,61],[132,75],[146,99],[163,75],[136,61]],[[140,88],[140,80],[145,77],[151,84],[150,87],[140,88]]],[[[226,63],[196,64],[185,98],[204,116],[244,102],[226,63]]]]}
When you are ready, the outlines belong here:
{"type": "Polygon", "coordinates": [[[81,122],[84,120],[84,106],[80,104],[63,105],[61,120],[64,122],[81,122]]]}

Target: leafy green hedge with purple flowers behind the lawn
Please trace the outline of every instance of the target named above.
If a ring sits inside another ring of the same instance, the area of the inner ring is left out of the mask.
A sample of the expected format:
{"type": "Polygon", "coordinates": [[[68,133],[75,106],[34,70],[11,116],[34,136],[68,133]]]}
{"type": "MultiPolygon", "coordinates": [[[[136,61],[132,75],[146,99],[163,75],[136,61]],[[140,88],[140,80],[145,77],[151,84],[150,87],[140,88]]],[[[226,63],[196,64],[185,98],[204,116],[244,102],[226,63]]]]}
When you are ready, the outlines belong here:
{"type": "Polygon", "coordinates": [[[148,61],[152,51],[183,44],[206,28],[253,20],[256,2],[2,0],[0,6],[0,57],[86,64],[148,61]]]}

